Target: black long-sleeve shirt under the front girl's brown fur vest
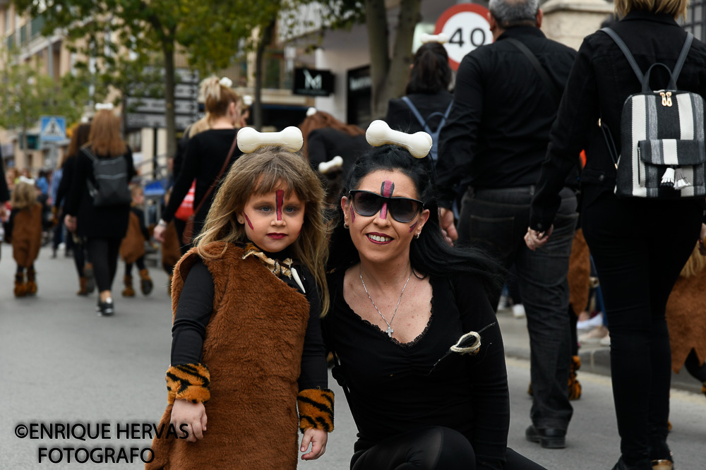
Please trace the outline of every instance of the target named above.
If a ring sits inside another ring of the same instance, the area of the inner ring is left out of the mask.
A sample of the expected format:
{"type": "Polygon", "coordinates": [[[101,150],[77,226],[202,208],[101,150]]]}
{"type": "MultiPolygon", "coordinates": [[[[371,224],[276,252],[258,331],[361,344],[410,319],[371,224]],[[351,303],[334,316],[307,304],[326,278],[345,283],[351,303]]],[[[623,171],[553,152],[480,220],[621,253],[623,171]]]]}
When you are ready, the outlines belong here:
{"type": "MultiPolygon", "coordinates": [[[[266,253],[270,258],[285,259],[277,253],[266,253]]],[[[304,335],[304,351],[301,355],[299,390],[326,388],[328,369],[325,348],[321,339],[321,299],[316,282],[304,265],[294,265],[304,285],[309,301],[309,323],[304,335]]],[[[289,287],[299,289],[293,279],[280,278],[289,287]]],[[[273,278],[273,282],[276,279],[273,278]]],[[[198,260],[186,276],[181,289],[177,312],[172,326],[172,366],[201,362],[203,339],[213,311],[213,276],[201,260],[198,260]]],[[[208,364],[206,364],[208,366],[208,364]]]]}

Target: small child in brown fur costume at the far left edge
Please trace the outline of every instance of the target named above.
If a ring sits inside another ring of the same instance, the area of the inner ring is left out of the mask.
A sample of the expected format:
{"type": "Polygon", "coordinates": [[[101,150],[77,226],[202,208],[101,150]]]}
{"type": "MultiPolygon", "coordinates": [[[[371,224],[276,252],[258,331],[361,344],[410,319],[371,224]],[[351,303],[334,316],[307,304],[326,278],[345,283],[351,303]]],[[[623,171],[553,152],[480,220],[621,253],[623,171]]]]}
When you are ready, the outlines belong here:
{"type": "Polygon", "coordinates": [[[42,246],[42,205],[37,202],[34,180],[22,176],[12,192],[11,203],[6,235],[12,241],[12,256],[17,263],[15,296],[23,297],[37,293],[35,260],[42,246]]]}

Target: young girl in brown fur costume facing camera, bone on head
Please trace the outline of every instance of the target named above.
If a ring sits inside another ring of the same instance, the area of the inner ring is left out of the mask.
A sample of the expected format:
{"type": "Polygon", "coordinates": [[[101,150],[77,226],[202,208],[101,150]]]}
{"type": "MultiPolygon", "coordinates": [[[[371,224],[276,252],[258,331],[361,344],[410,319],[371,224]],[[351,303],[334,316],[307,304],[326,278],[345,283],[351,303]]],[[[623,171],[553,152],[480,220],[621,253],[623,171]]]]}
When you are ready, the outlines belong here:
{"type": "Polygon", "coordinates": [[[296,469],[297,423],[299,450],[311,444],[302,459],[320,457],[333,430],[323,188],[294,153],[296,128],[244,128],[238,144],[252,153],[232,165],[172,279],[160,426],[189,435],[155,438],[146,469],[296,469]]]}

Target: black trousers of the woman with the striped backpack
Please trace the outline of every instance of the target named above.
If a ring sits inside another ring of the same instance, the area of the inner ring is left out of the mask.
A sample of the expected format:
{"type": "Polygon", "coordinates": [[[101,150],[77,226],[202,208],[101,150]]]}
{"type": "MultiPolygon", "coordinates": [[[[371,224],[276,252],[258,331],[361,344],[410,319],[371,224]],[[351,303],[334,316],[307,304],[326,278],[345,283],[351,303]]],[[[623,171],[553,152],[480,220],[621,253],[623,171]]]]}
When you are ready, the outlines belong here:
{"type": "Polygon", "coordinates": [[[584,191],[582,228],[611,332],[613,397],[628,464],[654,458],[649,447],[666,441],[671,350],[664,312],[701,218],[693,200],[618,199],[594,186],[584,191]]]}

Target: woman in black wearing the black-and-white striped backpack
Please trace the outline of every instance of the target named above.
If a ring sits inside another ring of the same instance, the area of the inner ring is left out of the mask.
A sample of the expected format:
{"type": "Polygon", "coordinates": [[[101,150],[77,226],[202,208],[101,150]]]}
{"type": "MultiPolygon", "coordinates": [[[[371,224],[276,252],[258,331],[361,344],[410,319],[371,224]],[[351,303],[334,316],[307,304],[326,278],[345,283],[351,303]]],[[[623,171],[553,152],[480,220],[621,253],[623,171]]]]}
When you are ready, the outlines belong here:
{"type": "MultiPolygon", "coordinates": [[[[620,160],[614,159],[616,156],[611,155],[597,123],[600,119],[606,134],[610,132],[616,149],[628,151],[629,147],[633,152],[634,147],[637,155],[638,145],[623,142],[622,135],[626,132],[639,136],[640,126],[634,128],[634,134],[632,126],[621,129],[623,104],[630,95],[643,90],[645,80],[638,79],[635,69],[644,74],[658,62],[664,67],[654,69],[647,90],[659,90],[666,85],[674,86],[675,91],[706,97],[703,67],[706,44],[699,40],[688,44],[687,32],[676,22],[686,8],[686,0],[616,1],[616,13],[623,19],[611,26],[610,31],[626,44],[633,65],[609,33],[597,31],[585,38],[551,130],[551,143],[537,181],[526,234],[527,246],[538,253],[544,250],[545,243],[551,243],[552,224],[556,232],[556,224],[560,223],[560,217],[556,217],[558,193],[573,168],[573,155],[585,149],[586,167],[581,175],[582,229],[600,279],[610,329],[611,380],[621,437],[621,457],[614,466],[618,470],[669,469],[674,465],[674,456],[666,442],[671,361],[665,306],[699,238],[704,199],[703,196],[700,200],[618,197],[615,192],[626,187],[616,185],[616,162],[621,168],[634,160],[625,155],[620,160]],[[675,71],[679,62],[681,73],[676,74],[675,85],[669,83],[670,72],[675,71]]],[[[644,103],[647,96],[640,95],[635,103],[640,100],[644,103]]],[[[665,92],[665,105],[670,101],[676,104],[676,109],[670,108],[676,112],[674,118],[661,117],[659,126],[652,120],[650,126],[642,128],[642,133],[649,130],[650,136],[645,138],[656,139],[657,136],[652,137],[653,131],[665,131],[664,126],[674,124],[674,129],[681,129],[676,131],[676,138],[703,149],[703,123],[697,121],[703,119],[703,114],[688,114],[695,123],[691,130],[688,126],[679,127],[679,122],[684,122],[683,112],[690,113],[681,106],[680,97],[689,95],[674,94],[671,100],[666,100],[665,92]]],[[[700,97],[692,96],[689,100],[702,102],[700,97]]],[[[656,100],[662,108],[659,92],[656,100]]],[[[662,109],[650,107],[650,115],[658,113],[662,114],[662,109]]],[[[652,119],[639,110],[632,116],[635,122],[652,119]]],[[[665,157],[674,158],[675,152],[665,157]]],[[[703,162],[703,153],[700,158],[703,162]]],[[[663,171],[666,174],[666,169],[663,171]]],[[[640,179],[635,182],[640,183],[640,179]]],[[[696,186],[685,189],[695,194],[696,186]]],[[[647,195],[647,189],[642,190],[647,195]]],[[[664,191],[681,195],[674,188],[659,188],[659,195],[668,196],[664,191]]]]}

